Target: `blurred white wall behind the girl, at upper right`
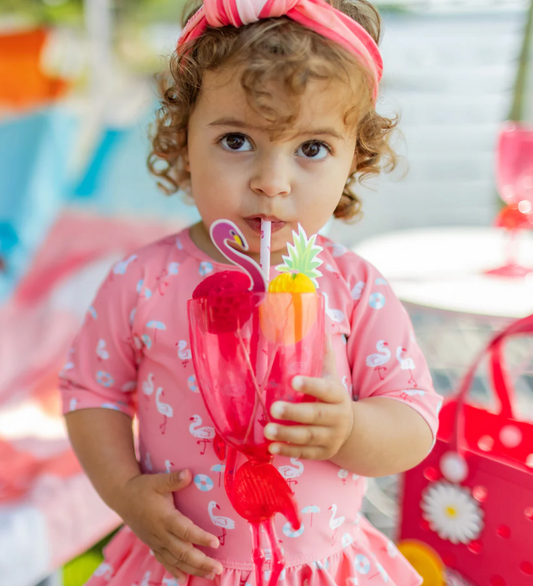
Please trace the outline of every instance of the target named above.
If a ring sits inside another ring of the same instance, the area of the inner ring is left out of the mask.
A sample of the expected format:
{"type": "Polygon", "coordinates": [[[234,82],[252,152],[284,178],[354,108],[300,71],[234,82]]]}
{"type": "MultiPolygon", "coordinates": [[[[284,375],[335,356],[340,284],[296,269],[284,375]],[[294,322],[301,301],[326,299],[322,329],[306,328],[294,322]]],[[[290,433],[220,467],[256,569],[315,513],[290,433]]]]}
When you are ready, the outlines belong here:
{"type": "Polygon", "coordinates": [[[378,110],[401,114],[406,164],[377,191],[360,191],[363,220],[334,222],[330,236],[351,246],[390,230],[490,224],[498,206],[494,148],[512,103],[524,5],[382,16],[378,110]]]}

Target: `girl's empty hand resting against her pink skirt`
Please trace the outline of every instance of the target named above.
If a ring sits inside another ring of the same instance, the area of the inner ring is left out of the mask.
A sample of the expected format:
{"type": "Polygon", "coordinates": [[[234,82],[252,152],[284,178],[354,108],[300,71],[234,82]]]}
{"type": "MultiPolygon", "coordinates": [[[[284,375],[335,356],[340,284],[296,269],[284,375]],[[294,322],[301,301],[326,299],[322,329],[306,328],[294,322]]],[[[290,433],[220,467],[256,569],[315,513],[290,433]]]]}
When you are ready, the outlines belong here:
{"type": "Polygon", "coordinates": [[[191,482],[191,473],[141,474],[126,483],[118,511],[126,525],[153,552],[155,559],[178,580],[186,574],[208,577],[222,572],[222,564],[194,547],[217,548],[215,535],[200,529],[174,506],[172,493],[191,482]]]}

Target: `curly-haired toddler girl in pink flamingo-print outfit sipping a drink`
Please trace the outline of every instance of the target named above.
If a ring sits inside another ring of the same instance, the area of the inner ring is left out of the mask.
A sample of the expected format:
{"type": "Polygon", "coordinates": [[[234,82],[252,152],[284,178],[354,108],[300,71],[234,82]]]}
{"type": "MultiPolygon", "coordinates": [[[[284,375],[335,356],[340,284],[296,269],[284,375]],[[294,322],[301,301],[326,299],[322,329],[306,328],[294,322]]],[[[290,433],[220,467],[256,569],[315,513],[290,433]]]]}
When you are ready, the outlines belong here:
{"type": "MultiPolygon", "coordinates": [[[[233,221],[259,258],[272,222],[271,274],[298,223],[316,233],[359,204],[356,174],[377,173],[394,126],[375,111],[379,18],[365,0],[206,0],[172,58],[150,160],[185,188],[201,222],[117,263],[62,372],[73,447],[125,527],[90,586],[253,586],[248,523],[232,509],[198,392],[187,300],[227,270],[209,238],[233,221]],[[161,166],[163,163],[163,166],[161,166]],[[136,456],[132,417],[139,423],[136,456]]],[[[409,318],[364,259],[319,237],[330,344],[321,378],[295,377],[315,403],[278,402],[265,434],[302,526],[278,515],[281,586],[415,586],[418,574],[359,514],[364,477],[429,452],[440,397],[409,318]]],[[[268,575],[268,566],[266,574],[268,575]]]]}

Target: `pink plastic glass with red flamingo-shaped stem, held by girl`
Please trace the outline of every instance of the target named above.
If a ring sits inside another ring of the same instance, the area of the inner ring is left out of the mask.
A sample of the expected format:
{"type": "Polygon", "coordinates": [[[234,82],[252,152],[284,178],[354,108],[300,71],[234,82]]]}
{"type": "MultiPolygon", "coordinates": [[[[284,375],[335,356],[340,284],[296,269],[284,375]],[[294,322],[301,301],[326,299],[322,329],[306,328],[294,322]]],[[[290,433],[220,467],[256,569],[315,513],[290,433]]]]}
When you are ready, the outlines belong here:
{"type": "Polygon", "coordinates": [[[230,446],[224,482],[235,510],[251,526],[256,584],[263,585],[263,528],[272,551],[269,585],[274,586],[285,561],[273,517],[281,512],[294,530],[301,521],[291,489],[272,466],[264,427],[274,421],[270,408],[275,401],[306,400],[292,389],[295,375],[321,375],[323,297],[253,291],[236,295],[238,302],[230,307],[238,309],[227,318],[231,328],[220,326],[220,305],[211,305],[206,297],[189,301],[191,350],[206,408],[230,446]],[[248,458],[238,469],[236,450],[248,458]]]}

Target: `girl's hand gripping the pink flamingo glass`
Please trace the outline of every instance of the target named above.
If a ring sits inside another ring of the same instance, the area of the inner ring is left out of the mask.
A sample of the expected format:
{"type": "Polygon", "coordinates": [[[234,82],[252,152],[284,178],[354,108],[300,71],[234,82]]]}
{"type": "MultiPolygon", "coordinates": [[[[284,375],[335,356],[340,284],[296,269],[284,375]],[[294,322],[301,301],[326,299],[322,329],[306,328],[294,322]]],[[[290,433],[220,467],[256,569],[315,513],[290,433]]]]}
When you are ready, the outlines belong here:
{"type": "Polygon", "coordinates": [[[265,427],[265,436],[276,441],[269,446],[270,452],[306,460],[331,459],[350,436],[354,415],[352,398],[338,379],[335,355],[329,340],[322,378],[294,377],[293,388],[316,397],[317,401],[276,401],[272,405],[272,417],[302,425],[269,423],[265,427]]]}

